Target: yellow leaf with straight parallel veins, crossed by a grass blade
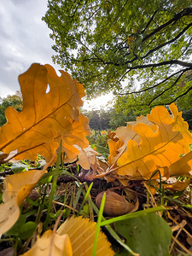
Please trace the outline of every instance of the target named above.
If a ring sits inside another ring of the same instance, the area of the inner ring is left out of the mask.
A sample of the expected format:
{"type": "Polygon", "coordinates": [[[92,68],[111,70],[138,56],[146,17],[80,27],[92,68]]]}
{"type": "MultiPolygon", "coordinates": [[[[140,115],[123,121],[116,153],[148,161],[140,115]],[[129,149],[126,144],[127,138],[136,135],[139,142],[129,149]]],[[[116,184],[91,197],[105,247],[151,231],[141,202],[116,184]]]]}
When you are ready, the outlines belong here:
{"type": "MultiPolygon", "coordinates": [[[[72,243],[73,256],[92,255],[96,235],[96,223],[88,218],[68,218],[57,230],[59,235],[67,234],[72,243]]],[[[106,236],[100,231],[96,247],[96,256],[114,255],[106,236]]]]}

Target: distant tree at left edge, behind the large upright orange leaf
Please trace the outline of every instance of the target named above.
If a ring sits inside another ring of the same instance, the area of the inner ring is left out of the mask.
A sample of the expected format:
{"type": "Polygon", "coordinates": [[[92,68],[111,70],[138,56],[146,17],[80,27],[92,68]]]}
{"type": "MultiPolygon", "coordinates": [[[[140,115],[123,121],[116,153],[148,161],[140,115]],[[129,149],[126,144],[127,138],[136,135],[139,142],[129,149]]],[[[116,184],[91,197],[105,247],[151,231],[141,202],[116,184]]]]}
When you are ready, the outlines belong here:
{"type": "Polygon", "coordinates": [[[12,107],[17,111],[21,111],[23,108],[22,96],[19,90],[16,91],[15,95],[7,96],[1,99],[0,103],[0,126],[4,125],[7,122],[5,118],[4,111],[6,108],[12,107]]]}

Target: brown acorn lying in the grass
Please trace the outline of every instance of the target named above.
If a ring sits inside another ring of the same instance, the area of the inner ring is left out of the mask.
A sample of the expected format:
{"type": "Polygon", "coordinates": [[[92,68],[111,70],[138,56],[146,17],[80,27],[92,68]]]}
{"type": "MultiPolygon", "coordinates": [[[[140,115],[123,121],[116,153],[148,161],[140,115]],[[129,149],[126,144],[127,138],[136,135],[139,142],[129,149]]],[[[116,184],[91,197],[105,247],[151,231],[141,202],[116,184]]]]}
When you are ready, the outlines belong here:
{"type": "Polygon", "coordinates": [[[102,191],[96,195],[96,207],[100,208],[102,203],[102,195],[106,193],[106,201],[103,212],[108,216],[119,216],[130,212],[137,211],[138,208],[138,199],[136,196],[136,201],[130,203],[125,200],[123,195],[119,195],[111,190],[102,191]]]}

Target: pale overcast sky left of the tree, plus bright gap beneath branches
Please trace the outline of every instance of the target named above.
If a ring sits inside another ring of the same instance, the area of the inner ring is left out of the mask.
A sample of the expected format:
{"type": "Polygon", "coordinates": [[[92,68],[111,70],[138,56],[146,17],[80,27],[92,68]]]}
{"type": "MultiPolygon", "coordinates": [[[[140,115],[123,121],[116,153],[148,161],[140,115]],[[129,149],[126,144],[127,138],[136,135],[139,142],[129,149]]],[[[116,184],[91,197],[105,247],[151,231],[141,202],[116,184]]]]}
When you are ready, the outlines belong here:
{"type": "MultiPolygon", "coordinates": [[[[47,0],[0,0],[0,96],[15,94],[20,90],[18,75],[26,72],[33,62],[49,63],[55,70],[51,56],[54,43],[51,32],[42,20],[47,10],[47,0]]],[[[99,108],[107,98],[84,102],[84,107],[99,108]],[[99,104],[100,103],[100,104],[99,104]]]]}

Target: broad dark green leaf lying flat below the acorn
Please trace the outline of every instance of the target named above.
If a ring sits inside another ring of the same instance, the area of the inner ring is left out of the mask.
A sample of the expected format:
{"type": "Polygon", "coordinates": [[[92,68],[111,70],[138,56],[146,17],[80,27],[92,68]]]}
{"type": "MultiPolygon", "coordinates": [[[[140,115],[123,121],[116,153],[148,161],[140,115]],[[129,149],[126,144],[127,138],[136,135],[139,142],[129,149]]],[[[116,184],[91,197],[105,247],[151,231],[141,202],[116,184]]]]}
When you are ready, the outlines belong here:
{"type": "MultiPolygon", "coordinates": [[[[126,219],[115,224],[126,244],[141,256],[168,256],[172,230],[155,212],[139,218],[126,219]]],[[[127,255],[125,251],[117,255],[127,255]]]]}

